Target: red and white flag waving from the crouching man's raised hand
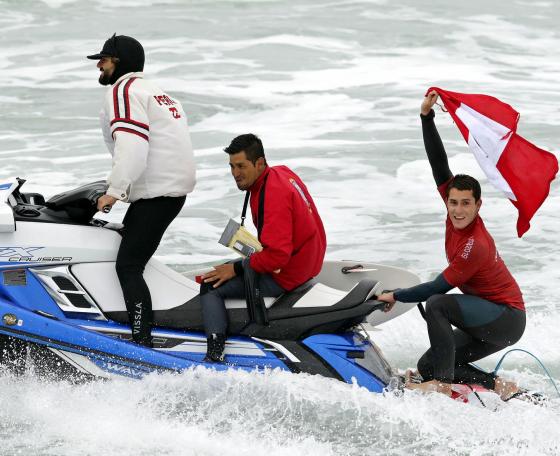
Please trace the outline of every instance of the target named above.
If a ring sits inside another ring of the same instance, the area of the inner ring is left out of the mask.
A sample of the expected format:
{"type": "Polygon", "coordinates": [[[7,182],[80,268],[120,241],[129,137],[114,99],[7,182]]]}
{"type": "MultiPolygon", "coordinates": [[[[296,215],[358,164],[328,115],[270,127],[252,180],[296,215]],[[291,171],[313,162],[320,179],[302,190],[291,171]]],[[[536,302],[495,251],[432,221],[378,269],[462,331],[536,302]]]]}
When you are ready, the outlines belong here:
{"type": "Polygon", "coordinates": [[[517,235],[550,191],[558,160],[516,133],[519,113],[488,95],[435,90],[492,184],[503,191],[519,211],[517,235]]]}

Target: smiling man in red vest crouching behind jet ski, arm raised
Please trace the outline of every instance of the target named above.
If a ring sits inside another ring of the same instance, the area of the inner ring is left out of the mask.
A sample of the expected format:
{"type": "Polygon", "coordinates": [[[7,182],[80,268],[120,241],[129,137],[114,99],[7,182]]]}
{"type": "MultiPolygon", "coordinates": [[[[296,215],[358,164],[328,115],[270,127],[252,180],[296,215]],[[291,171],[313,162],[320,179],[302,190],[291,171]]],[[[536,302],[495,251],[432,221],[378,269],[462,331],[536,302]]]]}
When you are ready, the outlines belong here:
{"type": "Polygon", "coordinates": [[[426,153],[439,193],[447,205],[445,253],[448,267],[432,282],[378,297],[390,310],[395,301],[426,301],[430,349],[418,361],[424,383],[413,389],[451,395],[452,383],[477,383],[502,399],[517,385],[473,367],[471,362],[517,342],[525,330],[525,306],[517,282],[500,258],[478,211],[480,184],[453,176],[434,123],[431,91],[421,107],[426,153]],[[464,294],[445,294],[458,287],[464,294]],[[456,328],[453,329],[452,325],[456,328]]]}

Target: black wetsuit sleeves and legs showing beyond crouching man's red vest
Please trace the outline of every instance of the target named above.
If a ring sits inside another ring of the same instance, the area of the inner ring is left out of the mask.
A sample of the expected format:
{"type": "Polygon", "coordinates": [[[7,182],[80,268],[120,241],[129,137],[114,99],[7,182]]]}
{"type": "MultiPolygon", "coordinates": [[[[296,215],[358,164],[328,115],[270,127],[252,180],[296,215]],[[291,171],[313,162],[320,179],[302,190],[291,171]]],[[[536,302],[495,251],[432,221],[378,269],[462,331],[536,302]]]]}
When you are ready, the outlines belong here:
{"type": "MultiPolygon", "coordinates": [[[[426,153],[439,187],[453,174],[433,121],[434,112],[420,117],[426,153]]],[[[452,288],[440,274],[431,282],[395,291],[397,301],[426,301],[431,347],[418,361],[418,371],[425,381],[477,383],[493,389],[495,376],[469,363],[517,342],[525,330],[525,312],[479,296],[446,294],[452,288]]]]}

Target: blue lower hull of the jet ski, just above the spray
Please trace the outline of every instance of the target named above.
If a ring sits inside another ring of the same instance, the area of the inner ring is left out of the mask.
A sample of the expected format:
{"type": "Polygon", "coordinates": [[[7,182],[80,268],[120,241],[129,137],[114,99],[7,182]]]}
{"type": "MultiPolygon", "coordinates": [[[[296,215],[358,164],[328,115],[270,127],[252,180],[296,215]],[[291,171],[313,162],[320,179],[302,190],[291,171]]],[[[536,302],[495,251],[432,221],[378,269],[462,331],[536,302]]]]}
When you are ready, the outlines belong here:
{"type": "Polygon", "coordinates": [[[0,315],[17,318],[13,326],[0,326],[0,366],[15,374],[32,371],[42,377],[75,382],[114,376],[142,378],[196,366],[217,371],[280,369],[356,382],[373,392],[382,391],[391,375],[388,364],[376,359],[378,349],[353,332],[315,335],[302,341],[231,337],[222,364],[202,361],[206,343],[200,333],[156,329],[156,348],[150,349],[129,342],[130,331],[124,325],[88,321],[68,324],[14,309],[5,302],[0,302],[0,315]],[[364,360],[373,365],[377,362],[377,375],[367,369],[364,360]]]}

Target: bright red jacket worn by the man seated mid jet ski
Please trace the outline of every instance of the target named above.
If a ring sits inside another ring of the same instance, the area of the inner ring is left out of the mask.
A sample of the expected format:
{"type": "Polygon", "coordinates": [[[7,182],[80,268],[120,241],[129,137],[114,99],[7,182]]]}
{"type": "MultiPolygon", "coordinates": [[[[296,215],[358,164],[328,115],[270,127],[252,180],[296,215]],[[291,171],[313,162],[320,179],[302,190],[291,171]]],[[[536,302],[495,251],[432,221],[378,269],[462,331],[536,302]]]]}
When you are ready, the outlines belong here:
{"type": "Polygon", "coordinates": [[[251,213],[258,226],[259,195],[266,178],[261,252],[251,267],[293,290],[321,271],[327,248],[323,222],[301,179],[286,166],[266,167],[251,186],[251,213]],[[278,272],[279,271],[279,272],[278,272]]]}

